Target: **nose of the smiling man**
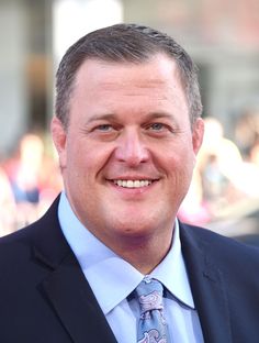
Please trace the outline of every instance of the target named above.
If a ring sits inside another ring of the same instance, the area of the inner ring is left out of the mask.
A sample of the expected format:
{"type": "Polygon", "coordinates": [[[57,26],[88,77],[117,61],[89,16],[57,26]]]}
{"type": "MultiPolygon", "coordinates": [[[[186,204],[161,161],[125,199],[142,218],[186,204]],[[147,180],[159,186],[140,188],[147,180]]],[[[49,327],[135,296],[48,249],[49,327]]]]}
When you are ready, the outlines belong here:
{"type": "Polygon", "coordinates": [[[136,167],[148,161],[148,148],[144,142],[144,137],[140,136],[137,130],[123,132],[117,143],[115,157],[119,162],[123,162],[130,167],[136,167]]]}

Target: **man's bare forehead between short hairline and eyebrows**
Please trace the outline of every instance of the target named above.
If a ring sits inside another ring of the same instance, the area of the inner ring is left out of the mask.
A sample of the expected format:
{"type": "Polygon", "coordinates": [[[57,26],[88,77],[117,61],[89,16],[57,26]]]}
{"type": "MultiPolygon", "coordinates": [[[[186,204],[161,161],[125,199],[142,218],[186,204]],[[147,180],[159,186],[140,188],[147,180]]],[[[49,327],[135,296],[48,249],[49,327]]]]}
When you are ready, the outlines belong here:
{"type": "Polygon", "coordinates": [[[90,113],[188,112],[177,63],[157,54],[143,63],[87,59],[78,70],[70,110],[90,113]]]}

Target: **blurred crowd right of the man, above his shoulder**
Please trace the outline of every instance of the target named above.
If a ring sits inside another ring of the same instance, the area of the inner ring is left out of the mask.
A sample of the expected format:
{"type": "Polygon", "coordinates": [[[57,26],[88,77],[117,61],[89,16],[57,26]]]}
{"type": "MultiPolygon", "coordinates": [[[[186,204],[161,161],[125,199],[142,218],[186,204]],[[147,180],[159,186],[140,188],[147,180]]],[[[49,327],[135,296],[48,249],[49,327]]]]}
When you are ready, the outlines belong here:
{"type": "Polygon", "coordinates": [[[193,182],[179,217],[188,222],[206,222],[237,215],[258,206],[259,210],[259,113],[239,118],[235,143],[225,137],[215,118],[205,119],[205,135],[198,155],[193,182]]]}

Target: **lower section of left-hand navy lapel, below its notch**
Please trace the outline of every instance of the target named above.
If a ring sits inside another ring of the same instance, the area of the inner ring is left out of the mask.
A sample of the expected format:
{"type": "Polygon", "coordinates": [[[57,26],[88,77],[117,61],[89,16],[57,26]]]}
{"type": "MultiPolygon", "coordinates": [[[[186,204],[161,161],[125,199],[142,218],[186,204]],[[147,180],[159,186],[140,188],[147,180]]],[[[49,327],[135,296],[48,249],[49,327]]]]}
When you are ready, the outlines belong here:
{"type": "Polygon", "coordinates": [[[74,342],[116,342],[72,254],[43,283],[43,288],[74,342]]]}

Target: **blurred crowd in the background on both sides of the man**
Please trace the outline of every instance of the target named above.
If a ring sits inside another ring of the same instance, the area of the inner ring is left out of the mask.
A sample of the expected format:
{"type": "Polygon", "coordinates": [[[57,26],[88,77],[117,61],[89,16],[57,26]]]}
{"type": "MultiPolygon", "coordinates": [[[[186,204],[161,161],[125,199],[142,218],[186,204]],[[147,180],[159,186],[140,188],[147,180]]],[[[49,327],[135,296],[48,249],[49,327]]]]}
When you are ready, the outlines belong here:
{"type": "MultiPolygon", "coordinates": [[[[179,218],[204,224],[244,201],[259,201],[259,113],[246,113],[235,125],[235,143],[215,118],[205,119],[205,136],[179,218]]],[[[0,235],[36,220],[63,187],[49,141],[25,134],[0,164],[0,235]]]]}

